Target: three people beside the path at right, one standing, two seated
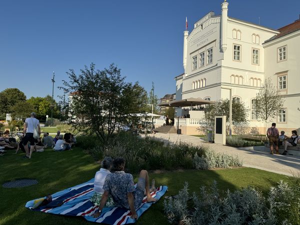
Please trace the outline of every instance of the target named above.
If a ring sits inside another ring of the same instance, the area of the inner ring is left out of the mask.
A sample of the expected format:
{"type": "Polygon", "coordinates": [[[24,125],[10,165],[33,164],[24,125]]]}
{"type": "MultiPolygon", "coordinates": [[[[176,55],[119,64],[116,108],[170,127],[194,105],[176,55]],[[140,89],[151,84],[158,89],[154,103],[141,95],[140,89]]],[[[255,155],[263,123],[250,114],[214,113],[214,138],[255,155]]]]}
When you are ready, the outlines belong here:
{"type": "Polygon", "coordinates": [[[284,131],[282,130],[279,135],[279,130],[276,128],[276,123],[272,123],[272,126],[269,127],[266,131],[266,135],[269,138],[270,145],[270,153],[273,154],[273,146],[275,146],[276,154],[279,154],[278,144],[282,143],[284,147],[284,151],[281,153],[283,155],[287,154],[288,146],[296,146],[298,140],[300,140],[300,136],[298,136],[296,130],[291,131],[291,137],[288,138],[284,135],[284,131]]]}

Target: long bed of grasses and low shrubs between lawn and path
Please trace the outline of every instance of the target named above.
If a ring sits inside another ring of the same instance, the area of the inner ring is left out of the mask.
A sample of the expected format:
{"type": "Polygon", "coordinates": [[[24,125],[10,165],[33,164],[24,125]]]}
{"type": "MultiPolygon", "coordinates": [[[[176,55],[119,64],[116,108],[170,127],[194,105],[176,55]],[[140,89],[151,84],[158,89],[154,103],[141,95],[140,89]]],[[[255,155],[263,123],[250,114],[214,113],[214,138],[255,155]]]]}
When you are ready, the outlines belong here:
{"type": "Polygon", "coordinates": [[[120,132],[106,144],[96,142],[95,136],[79,136],[77,141],[79,145],[83,144],[86,152],[95,160],[101,160],[106,155],[123,157],[126,161],[126,169],[132,173],[140,169],[171,170],[241,166],[237,156],[211,153],[204,145],[193,146],[183,142],[163,145],[162,141],[149,137],[140,138],[130,132],[120,132]],[[195,161],[202,157],[206,164],[198,166],[195,161]]]}

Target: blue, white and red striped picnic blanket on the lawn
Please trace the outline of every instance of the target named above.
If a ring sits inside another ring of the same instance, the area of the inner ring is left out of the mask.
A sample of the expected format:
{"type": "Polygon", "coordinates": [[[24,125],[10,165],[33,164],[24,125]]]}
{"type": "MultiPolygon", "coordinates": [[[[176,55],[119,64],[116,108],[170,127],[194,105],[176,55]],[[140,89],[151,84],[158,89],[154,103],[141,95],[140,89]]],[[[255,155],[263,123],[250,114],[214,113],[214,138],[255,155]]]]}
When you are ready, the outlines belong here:
{"type": "MultiPolygon", "coordinates": [[[[85,183],[81,183],[51,194],[52,200],[64,200],[64,203],[59,207],[46,208],[46,206],[41,206],[32,210],[60,215],[83,216],[83,218],[88,221],[102,222],[107,224],[120,225],[134,223],[135,219],[130,218],[130,210],[121,207],[104,207],[99,217],[92,217],[92,214],[96,210],[98,210],[98,206],[93,205],[93,203],[89,201],[89,198],[94,193],[93,181],[94,179],[92,178],[85,183]]],[[[166,191],[167,186],[159,186],[156,188],[156,191],[151,192],[151,195],[159,199],[166,191]]],[[[28,201],[25,204],[25,207],[31,209],[34,204],[34,200],[28,201]]],[[[136,210],[138,218],[145,210],[147,210],[151,206],[152,203],[155,202],[147,203],[146,197],[144,197],[141,205],[136,210]]]]}

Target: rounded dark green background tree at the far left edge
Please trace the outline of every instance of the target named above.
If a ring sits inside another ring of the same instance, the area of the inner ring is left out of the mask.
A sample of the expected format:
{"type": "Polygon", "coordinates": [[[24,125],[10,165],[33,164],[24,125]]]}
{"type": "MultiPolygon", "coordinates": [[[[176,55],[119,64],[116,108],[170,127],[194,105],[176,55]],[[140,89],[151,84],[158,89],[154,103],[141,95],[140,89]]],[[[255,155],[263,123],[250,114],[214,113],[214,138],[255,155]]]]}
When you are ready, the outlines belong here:
{"type": "Polygon", "coordinates": [[[0,113],[11,112],[11,107],[18,101],[25,101],[25,94],[18,88],[6,88],[0,92],[0,113]]]}

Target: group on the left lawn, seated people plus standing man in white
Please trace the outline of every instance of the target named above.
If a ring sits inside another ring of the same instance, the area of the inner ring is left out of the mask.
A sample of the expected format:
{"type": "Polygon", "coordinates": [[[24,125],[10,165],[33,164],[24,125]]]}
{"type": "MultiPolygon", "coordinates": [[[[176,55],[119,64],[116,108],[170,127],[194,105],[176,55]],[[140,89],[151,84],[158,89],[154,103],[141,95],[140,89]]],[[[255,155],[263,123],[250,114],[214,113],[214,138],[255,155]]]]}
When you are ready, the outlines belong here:
{"type": "MultiPolygon", "coordinates": [[[[31,158],[32,152],[42,152],[47,146],[53,147],[55,151],[63,151],[71,148],[72,144],[76,143],[76,138],[71,133],[57,134],[53,138],[48,132],[43,133],[42,138],[34,138],[33,133],[37,132],[40,135],[39,120],[35,118],[35,112],[30,113],[30,117],[24,121],[23,133],[19,135],[19,142],[13,137],[9,137],[9,131],[5,131],[3,137],[0,137],[0,148],[15,148],[15,153],[21,149],[26,152],[25,158],[31,158]],[[6,135],[6,136],[5,136],[6,135]],[[9,138],[8,138],[9,137],[9,138]]],[[[3,155],[6,150],[0,149],[0,155],[3,155]]]]}

